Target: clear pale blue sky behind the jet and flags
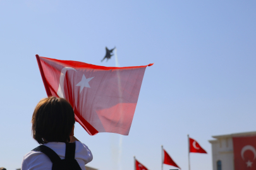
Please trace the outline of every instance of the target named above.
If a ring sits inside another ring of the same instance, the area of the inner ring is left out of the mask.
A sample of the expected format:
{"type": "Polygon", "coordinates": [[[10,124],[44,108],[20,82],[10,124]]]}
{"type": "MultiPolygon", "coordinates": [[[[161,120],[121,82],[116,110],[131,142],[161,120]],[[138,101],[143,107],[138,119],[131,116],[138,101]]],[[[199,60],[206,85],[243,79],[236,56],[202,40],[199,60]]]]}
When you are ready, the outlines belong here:
{"type": "Polygon", "coordinates": [[[35,54],[114,66],[101,59],[116,46],[121,66],[155,64],[130,135],[92,137],[76,123],[94,155],[88,166],[133,169],[136,156],[161,169],[164,145],[187,170],[189,133],[209,153],[191,154],[192,170],[212,169],[212,135],[256,130],[255,9],[256,1],[0,0],[0,167],[20,167],[38,145],[30,121],[46,91],[35,54]]]}

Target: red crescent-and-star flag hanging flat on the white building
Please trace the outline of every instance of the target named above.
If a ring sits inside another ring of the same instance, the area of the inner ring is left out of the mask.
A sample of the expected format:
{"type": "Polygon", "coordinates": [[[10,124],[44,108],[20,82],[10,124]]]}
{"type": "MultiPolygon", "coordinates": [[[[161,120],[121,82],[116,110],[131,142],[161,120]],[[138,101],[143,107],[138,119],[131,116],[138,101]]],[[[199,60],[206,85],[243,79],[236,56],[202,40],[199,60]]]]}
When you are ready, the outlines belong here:
{"type": "Polygon", "coordinates": [[[233,137],[235,170],[256,169],[256,136],[233,137]]]}

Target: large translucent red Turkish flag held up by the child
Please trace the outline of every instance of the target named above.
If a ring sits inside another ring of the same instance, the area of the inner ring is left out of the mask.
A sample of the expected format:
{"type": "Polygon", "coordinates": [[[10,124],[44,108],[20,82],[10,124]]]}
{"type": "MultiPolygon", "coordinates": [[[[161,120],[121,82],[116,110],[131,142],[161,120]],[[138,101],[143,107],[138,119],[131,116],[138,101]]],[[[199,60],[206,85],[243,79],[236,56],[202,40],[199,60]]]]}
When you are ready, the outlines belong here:
{"type": "Polygon", "coordinates": [[[36,57],[47,95],[66,98],[90,135],[128,135],[145,69],[152,64],[104,67],[36,57]]]}

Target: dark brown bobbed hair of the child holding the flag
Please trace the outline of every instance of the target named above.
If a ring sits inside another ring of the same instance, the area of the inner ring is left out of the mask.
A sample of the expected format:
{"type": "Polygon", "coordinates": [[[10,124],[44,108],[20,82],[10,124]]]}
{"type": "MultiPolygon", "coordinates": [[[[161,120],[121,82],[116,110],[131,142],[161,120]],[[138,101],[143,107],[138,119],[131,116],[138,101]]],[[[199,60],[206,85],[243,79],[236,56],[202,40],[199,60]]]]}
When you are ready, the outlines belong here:
{"type": "Polygon", "coordinates": [[[39,144],[70,142],[74,123],[75,114],[66,99],[54,96],[43,98],[35,107],[32,116],[33,138],[39,144]]]}

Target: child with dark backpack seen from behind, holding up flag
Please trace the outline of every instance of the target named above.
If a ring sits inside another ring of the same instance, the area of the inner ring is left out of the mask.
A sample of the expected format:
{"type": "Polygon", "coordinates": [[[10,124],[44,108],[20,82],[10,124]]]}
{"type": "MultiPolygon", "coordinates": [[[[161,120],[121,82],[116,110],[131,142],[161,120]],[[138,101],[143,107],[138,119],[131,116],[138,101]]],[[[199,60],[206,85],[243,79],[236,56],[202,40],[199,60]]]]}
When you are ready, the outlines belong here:
{"type": "Polygon", "coordinates": [[[66,99],[41,99],[32,116],[32,134],[42,145],[23,157],[21,170],[85,170],[92,153],[74,137],[74,127],[75,114],[66,99]]]}

